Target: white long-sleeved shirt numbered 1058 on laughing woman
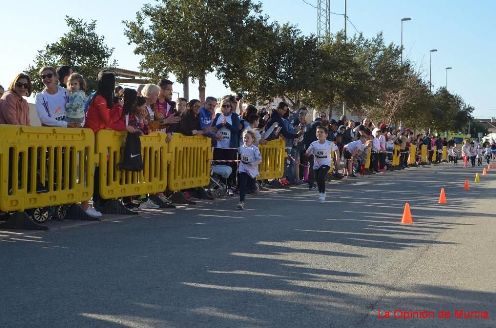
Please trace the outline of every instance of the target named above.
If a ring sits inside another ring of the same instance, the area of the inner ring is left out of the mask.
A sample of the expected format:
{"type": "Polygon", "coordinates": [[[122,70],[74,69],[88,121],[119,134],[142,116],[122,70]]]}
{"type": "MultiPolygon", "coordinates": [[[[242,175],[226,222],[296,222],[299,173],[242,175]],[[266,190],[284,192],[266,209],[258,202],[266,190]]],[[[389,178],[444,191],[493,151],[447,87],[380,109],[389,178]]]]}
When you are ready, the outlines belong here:
{"type": "MultiPolygon", "coordinates": [[[[35,97],[36,113],[43,126],[67,127],[65,121],[65,104],[69,102],[70,94],[67,89],[57,86],[53,95],[43,90],[35,97]]],[[[84,122],[82,124],[84,126],[84,122]]]]}

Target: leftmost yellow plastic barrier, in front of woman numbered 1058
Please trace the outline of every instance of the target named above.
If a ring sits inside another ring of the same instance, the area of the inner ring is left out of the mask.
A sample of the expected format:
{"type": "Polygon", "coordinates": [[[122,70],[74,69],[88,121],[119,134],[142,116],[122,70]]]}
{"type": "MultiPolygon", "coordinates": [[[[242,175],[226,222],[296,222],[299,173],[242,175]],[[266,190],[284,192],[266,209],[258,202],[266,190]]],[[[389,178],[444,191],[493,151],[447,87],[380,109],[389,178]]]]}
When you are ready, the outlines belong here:
{"type": "Polygon", "coordinates": [[[0,125],[0,209],[24,211],[91,199],[90,129],[0,125]],[[37,193],[36,185],[48,188],[37,193]]]}

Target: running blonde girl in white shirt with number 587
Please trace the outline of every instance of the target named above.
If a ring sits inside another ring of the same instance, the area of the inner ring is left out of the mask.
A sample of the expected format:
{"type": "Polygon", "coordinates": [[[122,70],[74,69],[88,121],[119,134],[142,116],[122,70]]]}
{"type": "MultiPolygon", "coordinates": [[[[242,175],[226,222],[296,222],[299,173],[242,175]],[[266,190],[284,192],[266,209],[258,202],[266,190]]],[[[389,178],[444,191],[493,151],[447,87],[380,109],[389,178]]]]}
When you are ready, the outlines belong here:
{"type": "Polygon", "coordinates": [[[245,208],[245,194],[247,185],[255,190],[255,178],[258,175],[258,164],[262,163],[262,155],[258,147],[253,145],[255,133],[251,130],[243,132],[243,145],[238,148],[240,165],[238,166],[238,184],[240,187],[240,203],[236,206],[239,210],[245,208]]]}

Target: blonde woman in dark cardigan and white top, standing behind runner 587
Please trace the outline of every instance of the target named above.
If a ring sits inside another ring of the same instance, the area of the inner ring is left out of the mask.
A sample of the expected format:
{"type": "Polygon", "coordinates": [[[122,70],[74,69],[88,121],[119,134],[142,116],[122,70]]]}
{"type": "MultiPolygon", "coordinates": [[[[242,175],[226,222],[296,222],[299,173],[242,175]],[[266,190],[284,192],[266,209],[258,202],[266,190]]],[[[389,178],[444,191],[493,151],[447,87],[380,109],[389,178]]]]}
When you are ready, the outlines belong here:
{"type": "MultiPolygon", "coordinates": [[[[234,105],[229,98],[224,98],[220,102],[221,112],[215,115],[212,126],[217,128],[219,139],[213,140],[214,161],[215,160],[236,160],[239,147],[240,120],[234,111],[234,105]]],[[[219,164],[223,162],[218,162],[219,164]]],[[[231,166],[232,172],[227,179],[229,195],[234,195],[231,189],[237,172],[236,162],[226,162],[225,165],[231,166]]]]}

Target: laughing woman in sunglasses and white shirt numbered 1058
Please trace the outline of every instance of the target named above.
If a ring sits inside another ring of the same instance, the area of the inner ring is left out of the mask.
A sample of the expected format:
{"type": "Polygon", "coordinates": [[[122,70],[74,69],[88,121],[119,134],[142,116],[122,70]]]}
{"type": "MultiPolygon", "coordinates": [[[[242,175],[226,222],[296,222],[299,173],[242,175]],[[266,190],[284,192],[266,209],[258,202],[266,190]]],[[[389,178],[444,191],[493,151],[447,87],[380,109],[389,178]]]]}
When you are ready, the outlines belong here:
{"type": "Polygon", "coordinates": [[[70,94],[67,89],[57,85],[57,71],[52,66],[40,69],[40,78],[45,89],[36,95],[36,112],[42,126],[81,127],[78,122],[65,121],[65,104],[69,102],[70,94]]]}

